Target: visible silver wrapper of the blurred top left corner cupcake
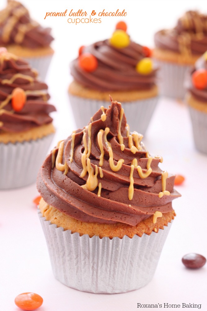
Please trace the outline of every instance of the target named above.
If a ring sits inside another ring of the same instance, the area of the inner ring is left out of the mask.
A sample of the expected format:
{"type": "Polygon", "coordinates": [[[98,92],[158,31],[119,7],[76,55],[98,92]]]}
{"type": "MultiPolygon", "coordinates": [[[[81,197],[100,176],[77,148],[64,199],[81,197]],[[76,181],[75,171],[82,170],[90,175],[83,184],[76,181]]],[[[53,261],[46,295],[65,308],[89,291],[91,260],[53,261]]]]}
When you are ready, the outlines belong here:
{"type": "Polygon", "coordinates": [[[53,54],[47,56],[38,57],[24,57],[24,59],[30,64],[30,66],[38,71],[38,78],[41,81],[45,81],[47,70],[51,63],[53,54]]]}

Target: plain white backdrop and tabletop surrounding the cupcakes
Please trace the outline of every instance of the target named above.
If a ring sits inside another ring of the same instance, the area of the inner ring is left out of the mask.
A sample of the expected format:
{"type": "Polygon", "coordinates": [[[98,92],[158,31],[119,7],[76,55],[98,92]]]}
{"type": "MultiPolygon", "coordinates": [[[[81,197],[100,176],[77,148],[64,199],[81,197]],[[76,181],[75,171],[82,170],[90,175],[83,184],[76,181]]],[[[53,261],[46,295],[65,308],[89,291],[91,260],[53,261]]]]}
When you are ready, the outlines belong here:
{"type": "MultiPolygon", "coordinates": [[[[67,88],[72,80],[69,63],[77,57],[81,45],[109,38],[115,24],[124,20],[134,41],[153,47],[155,31],[174,26],[177,18],[186,10],[199,9],[207,13],[205,0],[22,0],[22,3],[42,26],[52,27],[55,37],[52,44],[55,54],[46,78],[50,102],[57,108],[57,112],[53,113],[57,132],[51,148],[76,128],[67,88]],[[110,12],[125,9],[127,16],[102,17],[100,24],[69,24],[67,17],[47,17],[44,20],[46,12],[64,12],[66,9],[68,12],[83,9],[88,16],[92,10],[100,12],[105,9],[105,12],[110,12]]],[[[6,1],[0,0],[0,9],[5,5],[6,1]]],[[[207,310],[207,266],[200,270],[188,270],[181,262],[182,256],[189,252],[207,257],[207,157],[194,148],[185,104],[161,99],[143,141],[152,155],[163,156],[161,169],[182,174],[186,178],[182,186],[177,186],[182,194],[181,198],[173,201],[177,217],[153,280],[142,289],[115,295],[79,292],[56,281],[36,207],[32,203],[38,195],[33,184],[22,189],[0,191],[0,311],[19,310],[14,298],[27,291],[43,297],[39,311],[147,310],[138,309],[137,303],[159,303],[162,304],[159,310],[166,311],[175,309],[164,308],[164,303],[180,304],[182,310],[191,310],[182,308],[182,303],[191,303],[201,304],[201,310],[207,310]]]]}

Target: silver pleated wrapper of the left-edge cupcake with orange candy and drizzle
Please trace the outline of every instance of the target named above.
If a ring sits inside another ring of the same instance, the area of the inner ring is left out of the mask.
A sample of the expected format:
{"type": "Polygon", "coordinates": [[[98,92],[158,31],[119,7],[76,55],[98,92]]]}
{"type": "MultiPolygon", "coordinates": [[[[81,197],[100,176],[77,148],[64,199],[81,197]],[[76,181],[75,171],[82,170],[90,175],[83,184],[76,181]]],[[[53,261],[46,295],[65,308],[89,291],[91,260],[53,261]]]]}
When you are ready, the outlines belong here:
{"type": "Polygon", "coordinates": [[[53,137],[54,133],[29,142],[0,143],[0,189],[34,183],[53,137]]]}

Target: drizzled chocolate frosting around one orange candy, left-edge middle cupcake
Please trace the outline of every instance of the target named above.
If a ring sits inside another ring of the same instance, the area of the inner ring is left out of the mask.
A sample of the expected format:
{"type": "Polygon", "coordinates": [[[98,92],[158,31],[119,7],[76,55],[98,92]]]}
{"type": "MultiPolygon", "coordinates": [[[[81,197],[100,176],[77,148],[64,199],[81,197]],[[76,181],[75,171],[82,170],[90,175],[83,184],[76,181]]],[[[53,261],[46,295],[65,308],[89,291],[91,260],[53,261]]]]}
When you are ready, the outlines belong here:
{"type": "Polygon", "coordinates": [[[49,113],[56,109],[47,103],[50,98],[47,88],[25,60],[0,51],[0,133],[21,132],[51,123],[49,113]],[[25,105],[19,112],[14,111],[11,104],[16,88],[24,90],[26,95],[25,105]]]}

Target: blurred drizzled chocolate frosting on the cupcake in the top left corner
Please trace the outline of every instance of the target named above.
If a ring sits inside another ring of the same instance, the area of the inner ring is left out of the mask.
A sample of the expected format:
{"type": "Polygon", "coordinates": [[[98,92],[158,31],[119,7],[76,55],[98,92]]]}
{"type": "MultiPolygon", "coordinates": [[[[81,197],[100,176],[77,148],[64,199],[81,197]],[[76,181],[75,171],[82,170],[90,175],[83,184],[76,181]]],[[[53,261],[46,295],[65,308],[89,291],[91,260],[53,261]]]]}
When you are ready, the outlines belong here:
{"type": "Polygon", "coordinates": [[[28,10],[14,0],[8,0],[7,7],[0,12],[0,45],[19,44],[27,48],[41,48],[50,45],[54,39],[51,28],[43,28],[29,16],[28,10]]]}

